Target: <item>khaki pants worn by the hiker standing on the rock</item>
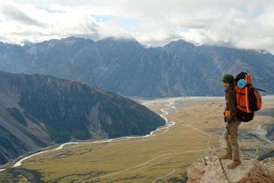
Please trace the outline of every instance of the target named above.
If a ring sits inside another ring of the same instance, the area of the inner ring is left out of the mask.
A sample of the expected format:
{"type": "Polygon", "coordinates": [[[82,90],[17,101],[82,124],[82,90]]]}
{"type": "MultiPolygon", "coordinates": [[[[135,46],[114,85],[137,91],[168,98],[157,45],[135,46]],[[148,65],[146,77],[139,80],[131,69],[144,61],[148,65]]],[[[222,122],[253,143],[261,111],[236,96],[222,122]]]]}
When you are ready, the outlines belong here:
{"type": "Polygon", "coordinates": [[[239,153],[239,145],[238,145],[238,126],[240,125],[241,121],[236,119],[229,125],[229,132],[225,128],[225,132],[223,133],[225,136],[225,142],[227,143],[226,151],[227,154],[232,154],[233,160],[240,160],[240,153],[239,153]]]}

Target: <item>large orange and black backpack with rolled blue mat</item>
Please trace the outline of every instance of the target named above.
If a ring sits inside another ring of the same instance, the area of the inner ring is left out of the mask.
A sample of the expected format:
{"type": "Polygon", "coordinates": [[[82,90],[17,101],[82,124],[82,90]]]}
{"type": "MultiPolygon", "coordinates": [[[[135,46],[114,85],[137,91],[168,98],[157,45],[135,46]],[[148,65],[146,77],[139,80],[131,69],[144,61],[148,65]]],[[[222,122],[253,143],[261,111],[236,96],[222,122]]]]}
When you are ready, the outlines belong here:
{"type": "MultiPolygon", "coordinates": [[[[252,85],[252,77],[249,73],[239,73],[235,77],[234,94],[236,98],[237,119],[243,122],[251,121],[254,111],[262,108],[262,98],[258,90],[252,85]]],[[[262,90],[266,92],[265,90],[262,90]]]]}

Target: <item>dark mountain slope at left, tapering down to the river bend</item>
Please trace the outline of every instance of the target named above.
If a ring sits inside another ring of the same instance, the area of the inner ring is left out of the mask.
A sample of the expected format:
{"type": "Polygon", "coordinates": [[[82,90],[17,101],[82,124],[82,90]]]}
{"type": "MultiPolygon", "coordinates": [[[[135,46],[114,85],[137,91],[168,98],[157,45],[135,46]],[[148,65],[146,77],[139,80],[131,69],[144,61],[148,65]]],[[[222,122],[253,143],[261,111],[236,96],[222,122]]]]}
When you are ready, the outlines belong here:
{"type": "Polygon", "coordinates": [[[145,106],[49,75],[0,71],[0,164],[71,139],[145,135],[165,121],[145,106]]]}

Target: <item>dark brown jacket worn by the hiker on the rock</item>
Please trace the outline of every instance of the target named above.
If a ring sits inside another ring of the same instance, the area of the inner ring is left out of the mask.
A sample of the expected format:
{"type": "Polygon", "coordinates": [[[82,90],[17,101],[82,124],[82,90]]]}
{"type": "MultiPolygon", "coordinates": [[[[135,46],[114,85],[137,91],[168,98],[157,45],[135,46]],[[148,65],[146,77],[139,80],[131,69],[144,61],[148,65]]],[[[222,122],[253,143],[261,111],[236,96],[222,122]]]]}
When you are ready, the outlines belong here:
{"type": "MultiPolygon", "coordinates": [[[[225,93],[227,93],[228,90],[232,90],[234,86],[232,87],[227,87],[225,89],[225,93]]],[[[225,105],[225,110],[230,110],[230,116],[227,118],[227,123],[230,124],[232,121],[236,119],[236,103],[235,103],[235,98],[234,98],[234,93],[229,92],[226,94],[226,105],[225,105]]]]}

